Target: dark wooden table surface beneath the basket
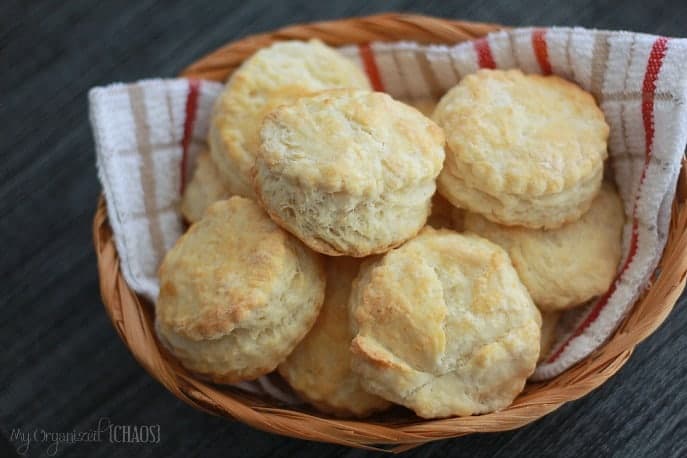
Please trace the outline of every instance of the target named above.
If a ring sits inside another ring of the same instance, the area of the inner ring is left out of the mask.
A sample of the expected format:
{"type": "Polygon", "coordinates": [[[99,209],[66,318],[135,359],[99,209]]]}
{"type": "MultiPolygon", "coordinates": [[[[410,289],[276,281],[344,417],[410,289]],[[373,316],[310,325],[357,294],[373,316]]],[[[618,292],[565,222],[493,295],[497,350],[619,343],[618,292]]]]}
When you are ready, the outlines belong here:
{"type": "MultiPolygon", "coordinates": [[[[0,2],[0,456],[359,457],[195,411],[134,361],[100,301],[91,218],[100,186],[86,92],[173,76],[227,41],[294,22],[414,11],[509,25],[687,35],[687,2],[0,2]],[[159,425],[157,445],[34,440],[99,419],[159,425]]],[[[608,383],[518,431],[430,444],[413,456],[687,456],[684,297],[608,383]]]]}

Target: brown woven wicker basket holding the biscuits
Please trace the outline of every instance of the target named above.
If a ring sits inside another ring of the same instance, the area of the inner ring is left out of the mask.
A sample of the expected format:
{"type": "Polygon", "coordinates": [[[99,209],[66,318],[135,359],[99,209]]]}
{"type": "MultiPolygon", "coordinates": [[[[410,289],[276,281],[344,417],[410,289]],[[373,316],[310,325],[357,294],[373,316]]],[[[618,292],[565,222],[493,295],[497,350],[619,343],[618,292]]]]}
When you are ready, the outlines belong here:
{"type": "MultiPolygon", "coordinates": [[[[223,81],[256,49],[277,40],[317,37],[334,46],[398,40],[451,44],[481,37],[497,28],[490,24],[402,14],[296,25],[231,43],[200,59],[184,70],[183,75],[223,81]]],[[[663,322],[685,286],[686,199],[687,172],[683,167],[673,202],[670,234],[659,264],[661,273],[606,344],[555,379],[528,384],[515,402],[503,411],[443,420],[422,420],[402,409],[367,421],[338,420],[307,407],[277,407],[269,398],[196,380],[160,348],[153,332],[152,307],[124,281],[103,198],[95,214],[93,234],[100,288],[112,323],[139,363],[175,396],[195,408],[233,417],[265,431],[354,447],[392,446],[392,451],[402,451],[425,442],[473,432],[518,428],[565,402],[584,396],[615,374],[634,347],[663,322]]]]}

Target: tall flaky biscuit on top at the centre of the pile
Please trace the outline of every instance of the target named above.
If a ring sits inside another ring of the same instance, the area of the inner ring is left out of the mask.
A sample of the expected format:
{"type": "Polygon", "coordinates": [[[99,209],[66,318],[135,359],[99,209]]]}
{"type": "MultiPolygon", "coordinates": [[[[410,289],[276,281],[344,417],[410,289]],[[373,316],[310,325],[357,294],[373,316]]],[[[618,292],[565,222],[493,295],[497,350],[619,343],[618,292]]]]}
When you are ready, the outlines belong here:
{"type": "Polygon", "coordinates": [[[265,117],[258,200],[320,253],[381,253],[425,224],[444,160],[441,129],[380,92],[332,90],[265,117]]]}

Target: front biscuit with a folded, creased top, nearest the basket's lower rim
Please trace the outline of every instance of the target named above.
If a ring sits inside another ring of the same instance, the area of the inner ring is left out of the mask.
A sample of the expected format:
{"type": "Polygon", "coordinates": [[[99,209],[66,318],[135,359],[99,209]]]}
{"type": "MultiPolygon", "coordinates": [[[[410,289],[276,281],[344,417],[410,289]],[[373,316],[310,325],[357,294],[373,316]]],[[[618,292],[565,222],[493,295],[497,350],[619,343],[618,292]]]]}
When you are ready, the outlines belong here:
{"type": "Polygon", "coordinates": [[[539,356],[541,315],[508,254],[425,228],[363,264],[349,302],[363,387],[423,418],[508,406],[539,356]]]}

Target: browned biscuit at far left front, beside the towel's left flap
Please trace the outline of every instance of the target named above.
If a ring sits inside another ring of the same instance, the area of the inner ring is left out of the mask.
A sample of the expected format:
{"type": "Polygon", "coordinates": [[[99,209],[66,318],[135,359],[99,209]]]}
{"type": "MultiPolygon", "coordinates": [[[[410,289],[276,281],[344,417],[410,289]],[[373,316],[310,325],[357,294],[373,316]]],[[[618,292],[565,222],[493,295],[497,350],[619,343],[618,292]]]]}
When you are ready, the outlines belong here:
{"type": "Polygon", "coordinates": [[[217,383],[274,370],[324,299],[321,256],[252,200],[208,207],[165,256],[155,328],[187,369],[217,383]]]}

